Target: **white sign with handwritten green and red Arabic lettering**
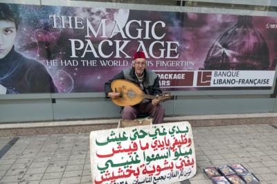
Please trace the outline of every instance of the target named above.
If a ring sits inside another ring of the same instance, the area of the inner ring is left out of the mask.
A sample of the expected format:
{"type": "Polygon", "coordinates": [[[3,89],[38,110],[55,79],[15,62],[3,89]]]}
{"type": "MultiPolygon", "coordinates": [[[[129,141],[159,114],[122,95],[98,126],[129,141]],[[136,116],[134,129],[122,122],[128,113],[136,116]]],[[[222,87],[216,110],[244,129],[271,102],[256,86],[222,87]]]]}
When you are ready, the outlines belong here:
{"type": "Polygon", "coordinates": [[[91,131],[93,183],[173,183],[196,173],[189,122],[91,131]]]}

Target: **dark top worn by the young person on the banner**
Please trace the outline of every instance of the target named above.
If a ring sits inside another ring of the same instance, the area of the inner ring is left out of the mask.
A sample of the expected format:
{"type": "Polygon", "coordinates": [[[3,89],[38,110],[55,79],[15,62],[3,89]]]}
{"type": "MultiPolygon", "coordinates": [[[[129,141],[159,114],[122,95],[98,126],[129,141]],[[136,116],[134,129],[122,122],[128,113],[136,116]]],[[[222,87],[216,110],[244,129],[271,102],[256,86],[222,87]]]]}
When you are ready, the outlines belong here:
{"type": "Polygon", "coordinates": [[[0,84],[7,93],[55,93],[54,82],[43,64],[17,53],[0,59],[0,84]]]}

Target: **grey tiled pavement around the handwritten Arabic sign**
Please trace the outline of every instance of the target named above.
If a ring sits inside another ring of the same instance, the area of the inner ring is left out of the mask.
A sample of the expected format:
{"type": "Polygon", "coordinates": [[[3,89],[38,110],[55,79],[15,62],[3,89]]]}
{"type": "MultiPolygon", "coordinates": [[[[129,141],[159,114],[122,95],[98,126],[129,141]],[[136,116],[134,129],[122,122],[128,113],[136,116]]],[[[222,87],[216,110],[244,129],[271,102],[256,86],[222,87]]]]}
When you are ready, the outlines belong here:
{"type": "MultiPolygon", "coordinates": [[[[271,125],[193,127],[197,174],[202,168],[241,163],[260,183],[277,184],[277,129],[271,125]]],[[[0,150],[11,138],[0,138],[0,150]]],[[[22,136],[0,159],[0,183],[91,183],[89,134],[22,136]]]]}

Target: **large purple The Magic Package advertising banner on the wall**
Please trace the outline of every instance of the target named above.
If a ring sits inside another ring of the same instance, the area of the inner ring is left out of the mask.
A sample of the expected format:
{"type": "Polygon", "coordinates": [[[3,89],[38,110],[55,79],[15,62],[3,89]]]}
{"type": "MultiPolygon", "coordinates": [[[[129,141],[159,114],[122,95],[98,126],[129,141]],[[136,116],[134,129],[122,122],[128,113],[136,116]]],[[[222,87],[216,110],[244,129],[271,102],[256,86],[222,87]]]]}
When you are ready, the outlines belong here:
{"type": "Polygon", "coordinates": [[[8,37],[0,40],[2,94],[103,92],[107,80],[132,67],[137,50],[163,91],[274,85],[277,17],[0,6],[20,19],[0,17],[8,37]]]}

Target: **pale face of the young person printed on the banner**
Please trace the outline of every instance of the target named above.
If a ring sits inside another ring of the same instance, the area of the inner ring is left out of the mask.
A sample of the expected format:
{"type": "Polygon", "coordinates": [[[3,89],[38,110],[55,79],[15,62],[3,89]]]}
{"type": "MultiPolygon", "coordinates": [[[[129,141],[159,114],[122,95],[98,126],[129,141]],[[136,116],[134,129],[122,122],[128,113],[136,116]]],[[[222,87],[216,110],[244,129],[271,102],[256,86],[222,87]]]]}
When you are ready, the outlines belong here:
{"type": "Polygon", "coordinates": [[[3,59],[12,49],[16,35],[15,22],[0,20],[0,59],[3,59]]]}

